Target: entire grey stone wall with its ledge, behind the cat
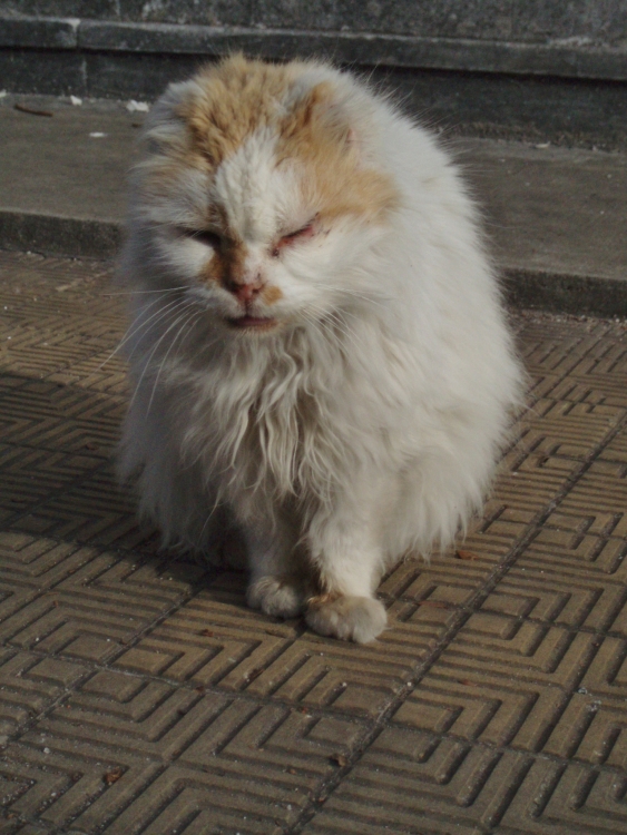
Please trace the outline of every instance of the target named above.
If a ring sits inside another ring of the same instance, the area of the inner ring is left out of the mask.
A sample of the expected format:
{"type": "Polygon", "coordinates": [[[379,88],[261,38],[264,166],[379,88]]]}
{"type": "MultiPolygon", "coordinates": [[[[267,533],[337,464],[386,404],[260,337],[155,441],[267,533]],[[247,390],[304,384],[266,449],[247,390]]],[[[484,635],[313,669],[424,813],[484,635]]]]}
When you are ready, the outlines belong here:
{"type": "Polygon", "coordinates": [[[627,148],[627,0],[0,0],[9,91],[153,99],[235,50],[362,69],[449,130],[627,148]]]}

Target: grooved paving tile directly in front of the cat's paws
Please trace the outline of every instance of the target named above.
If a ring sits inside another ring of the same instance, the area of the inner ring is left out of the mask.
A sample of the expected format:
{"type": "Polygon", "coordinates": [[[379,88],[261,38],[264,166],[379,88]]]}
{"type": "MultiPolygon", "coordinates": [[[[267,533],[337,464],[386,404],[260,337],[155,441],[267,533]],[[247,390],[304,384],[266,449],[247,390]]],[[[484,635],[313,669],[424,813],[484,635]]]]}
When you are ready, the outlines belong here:
{"type": "Polygon", "coordinates": [[[376,716],[444,628],[438,619],[405,622],[374,645],[354,647],[245,609],[239,584],[234,601],[208,591],[194,597],[124,652],[116,669],[376,716]]]}

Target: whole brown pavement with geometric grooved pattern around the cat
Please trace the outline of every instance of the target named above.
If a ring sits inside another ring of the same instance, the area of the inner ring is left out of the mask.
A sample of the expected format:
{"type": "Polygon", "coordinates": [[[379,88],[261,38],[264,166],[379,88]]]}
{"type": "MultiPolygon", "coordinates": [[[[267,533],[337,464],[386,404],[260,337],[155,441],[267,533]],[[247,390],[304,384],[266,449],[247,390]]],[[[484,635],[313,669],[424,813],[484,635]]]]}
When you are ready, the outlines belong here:
{"type": "Polygon", "coordinates": [[[0,253],[1,835],[627,833],[627,325],[512,317],[529,409],[356,647],[159,552],[111,452],[123,297],[0,253]]]}

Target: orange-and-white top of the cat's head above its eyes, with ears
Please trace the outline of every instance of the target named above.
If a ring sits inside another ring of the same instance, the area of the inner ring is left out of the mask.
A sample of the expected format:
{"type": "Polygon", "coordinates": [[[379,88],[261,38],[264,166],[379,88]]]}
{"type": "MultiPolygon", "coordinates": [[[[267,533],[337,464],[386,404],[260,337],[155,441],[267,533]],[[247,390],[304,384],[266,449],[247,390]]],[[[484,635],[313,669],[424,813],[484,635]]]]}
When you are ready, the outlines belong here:
{"type": "MultiPolygon", "coordinates": [[[[204,170],[213,186],[221,177],[238,181],[229,193],[232,206],[251,204],[255,193],[266,203],[280,202],[277,184],[296,171],[290,185],[310,213],[372,219],[399,199],[391,176],[364,164],[361,154],[365,111],[374,111],[373,104],[365,90],[324,65],[275,66],[235,56],[170,88],[148,138],[158,137],[158,155],[204,170]],[[364,112],[353,92],[361,95],[364,112]]],[[[158,168],[157,163],[157,176],[158,168]]]]}

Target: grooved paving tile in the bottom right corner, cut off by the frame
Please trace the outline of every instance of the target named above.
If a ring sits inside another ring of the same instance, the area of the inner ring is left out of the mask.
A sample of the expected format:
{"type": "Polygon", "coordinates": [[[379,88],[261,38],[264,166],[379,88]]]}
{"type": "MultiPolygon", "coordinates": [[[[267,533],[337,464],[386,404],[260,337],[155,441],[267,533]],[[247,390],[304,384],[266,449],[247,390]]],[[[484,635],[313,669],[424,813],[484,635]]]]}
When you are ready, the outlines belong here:
{"type": "Polygon", "coordinates": [[[389,729],[303,832],[609,835],[626,790],[625,775],[389,729]]]}

